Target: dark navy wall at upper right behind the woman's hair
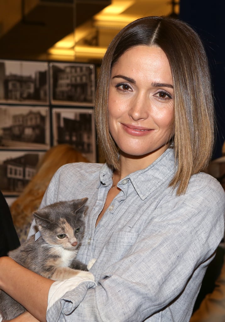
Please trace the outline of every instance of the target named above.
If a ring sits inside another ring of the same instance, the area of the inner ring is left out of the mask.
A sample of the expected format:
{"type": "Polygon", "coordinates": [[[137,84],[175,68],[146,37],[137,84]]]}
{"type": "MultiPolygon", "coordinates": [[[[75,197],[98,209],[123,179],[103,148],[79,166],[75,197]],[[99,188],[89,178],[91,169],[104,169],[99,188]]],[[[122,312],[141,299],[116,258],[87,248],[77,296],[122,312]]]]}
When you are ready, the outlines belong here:
{"type": "Polygon", "coordinates": [[[225,1],[180,0],[180,19],[201,36],[208,54],[218,127],[213,158],[217,158],[225,139],[225,1]]]}

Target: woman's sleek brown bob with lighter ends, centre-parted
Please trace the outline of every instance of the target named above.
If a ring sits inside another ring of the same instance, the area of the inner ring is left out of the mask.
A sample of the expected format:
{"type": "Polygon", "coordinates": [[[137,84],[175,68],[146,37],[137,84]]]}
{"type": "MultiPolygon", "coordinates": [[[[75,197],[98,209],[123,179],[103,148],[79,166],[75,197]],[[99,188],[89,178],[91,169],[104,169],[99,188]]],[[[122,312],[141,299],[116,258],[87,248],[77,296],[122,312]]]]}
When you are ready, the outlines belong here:
{"type": "Polygon", "coordinates": [[[106,162],[119,170],[118,148],[108,129],[110,72],[121,55],[138,46],[158,46],[173,77],[173,148],[177,172],[170,185],[186,191],[191,175],[208,166],[214,143],[214,106],[208,60],[200,37],[186,23],[169,17],[144,17],[124,27],[102,60],[95,102],[98,143],[106,162]]]}

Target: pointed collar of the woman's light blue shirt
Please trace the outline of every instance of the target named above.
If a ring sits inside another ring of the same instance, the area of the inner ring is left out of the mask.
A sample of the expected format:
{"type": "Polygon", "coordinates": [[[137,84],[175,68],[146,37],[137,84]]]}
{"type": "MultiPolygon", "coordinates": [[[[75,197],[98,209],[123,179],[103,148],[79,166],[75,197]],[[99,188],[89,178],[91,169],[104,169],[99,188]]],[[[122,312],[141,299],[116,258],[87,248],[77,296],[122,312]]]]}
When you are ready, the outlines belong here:
{"type": "MultiPolygon", "coordinates": [[[[168,148],[151,165],[143,170],[135,171],[124,179],[129,179],[142,200],[151,194],[158,186],[169,184],[176,171],[173,148],[168,148]]],[[[121,181],[118,186],[121,185],[121,181]]],[[[104,186],[112,184],[112,168],[104,164],[100,171],[100,182],[104,186]]]]}

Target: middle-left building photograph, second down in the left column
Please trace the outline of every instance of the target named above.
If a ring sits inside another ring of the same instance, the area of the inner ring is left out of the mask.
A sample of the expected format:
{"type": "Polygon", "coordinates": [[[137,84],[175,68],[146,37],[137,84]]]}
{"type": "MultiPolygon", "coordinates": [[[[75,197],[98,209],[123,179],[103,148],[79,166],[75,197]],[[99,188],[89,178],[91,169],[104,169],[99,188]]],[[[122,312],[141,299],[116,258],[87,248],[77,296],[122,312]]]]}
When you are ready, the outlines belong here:
{"type": "Polygon", "coordinates": [[[0,149],[48,150],[49,107],[0,105],[0,149]]]}

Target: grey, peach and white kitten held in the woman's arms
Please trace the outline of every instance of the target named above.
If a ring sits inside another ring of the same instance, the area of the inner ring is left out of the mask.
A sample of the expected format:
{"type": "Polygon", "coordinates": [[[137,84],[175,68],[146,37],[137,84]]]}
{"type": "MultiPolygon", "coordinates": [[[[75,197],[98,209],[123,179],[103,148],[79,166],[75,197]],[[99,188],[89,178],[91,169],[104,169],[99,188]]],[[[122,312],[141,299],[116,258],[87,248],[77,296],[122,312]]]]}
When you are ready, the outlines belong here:
{"type": "MultiPolygon", "coordinates": [[[[57,202],[36,211],[33,215],[41,236],[35,242],[35,235],[32,235],[19,248],[10,251],[9,257],[53,280],[68,279],[78,274],[85,277],[91,275],[85,272],[87,266],[76,260],[84,235],[87,200],[57,202]]],[[[0,292],[0,313],[3,319],[13,319],[24,311],[13,298],[0,292]]]]}

